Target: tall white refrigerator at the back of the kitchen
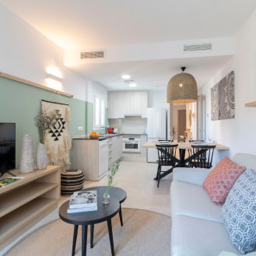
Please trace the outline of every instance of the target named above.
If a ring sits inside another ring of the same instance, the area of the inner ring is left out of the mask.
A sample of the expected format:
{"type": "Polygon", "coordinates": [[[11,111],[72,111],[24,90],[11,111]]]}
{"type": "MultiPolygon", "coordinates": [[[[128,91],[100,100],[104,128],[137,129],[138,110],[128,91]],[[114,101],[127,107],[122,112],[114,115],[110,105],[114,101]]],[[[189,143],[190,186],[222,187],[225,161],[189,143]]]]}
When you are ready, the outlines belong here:
{"type": "MultiPolygon", "coordinates": [[[[148,142],[167,139],[167,110],[164,107],[148,107],[147,109],[148,142]]],[[[156,149],[147,149],[147,162],[156,163],[156,149]]]]}

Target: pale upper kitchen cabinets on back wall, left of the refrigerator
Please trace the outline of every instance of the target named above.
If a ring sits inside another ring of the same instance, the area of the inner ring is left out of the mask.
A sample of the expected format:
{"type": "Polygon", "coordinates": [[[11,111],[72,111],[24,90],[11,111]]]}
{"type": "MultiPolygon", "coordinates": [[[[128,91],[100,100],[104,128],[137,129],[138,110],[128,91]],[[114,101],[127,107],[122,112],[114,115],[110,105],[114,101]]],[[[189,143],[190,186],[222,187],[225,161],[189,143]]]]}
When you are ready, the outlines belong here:
{"type": "Polygon", "coordinates": [[[146,117],[148,92],[118,91],[108,93],[108,118],[124,118],[125,115],[146,117]]]}

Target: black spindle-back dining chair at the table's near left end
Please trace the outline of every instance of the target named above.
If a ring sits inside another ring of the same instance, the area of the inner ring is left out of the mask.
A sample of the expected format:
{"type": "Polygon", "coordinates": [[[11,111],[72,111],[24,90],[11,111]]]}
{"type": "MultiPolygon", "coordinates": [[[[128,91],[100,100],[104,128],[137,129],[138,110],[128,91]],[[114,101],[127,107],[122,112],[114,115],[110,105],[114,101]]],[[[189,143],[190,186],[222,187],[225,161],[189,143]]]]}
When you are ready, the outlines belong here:
{"type": "MultiPolygon", "coordinates": [[[[157,188],[159,188],[161,173],[163,174],[167,170],[162,170],[162,167],[172,167],[176,165],[175,155],[177,144],[156,144],[156,149],[158,153],[158,163],[157,166],[157,174],[156,174],[156,181],[157,181],[157,188]]],[[[170,169],[168,170],[170,171],[170,169]]]]}

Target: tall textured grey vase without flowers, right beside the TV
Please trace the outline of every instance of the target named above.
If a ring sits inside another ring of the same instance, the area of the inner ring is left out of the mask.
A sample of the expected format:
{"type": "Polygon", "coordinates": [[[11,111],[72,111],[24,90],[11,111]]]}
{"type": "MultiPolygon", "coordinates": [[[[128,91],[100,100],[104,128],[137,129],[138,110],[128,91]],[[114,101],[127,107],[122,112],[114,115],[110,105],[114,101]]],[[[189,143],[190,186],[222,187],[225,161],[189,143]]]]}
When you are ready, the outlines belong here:
{"type": "Polygon", "coordinates": [[[21,173],[31,173],[35,170],[33,161],[33,139],[31,135],[24,135],[21,147],[19,171],[21,173]]]}

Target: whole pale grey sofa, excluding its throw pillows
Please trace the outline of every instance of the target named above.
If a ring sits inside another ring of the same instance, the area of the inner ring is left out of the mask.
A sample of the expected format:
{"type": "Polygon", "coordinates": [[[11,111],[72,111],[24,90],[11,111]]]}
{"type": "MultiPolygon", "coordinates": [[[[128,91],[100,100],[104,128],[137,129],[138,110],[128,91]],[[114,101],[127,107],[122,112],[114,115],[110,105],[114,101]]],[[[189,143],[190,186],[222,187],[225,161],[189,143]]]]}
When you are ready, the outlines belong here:
{"type": "MultiPolygon", "coordinates": [[[[238,153],[238,165],[256,170],[256,156],[238,153]]],[[[170,186],[171,256],[217,256],[221,251],[240,254],[230,241],[220,216],[222,205],[214,205],[202,188],[211,170],[175,168],[170,186]]]]}

